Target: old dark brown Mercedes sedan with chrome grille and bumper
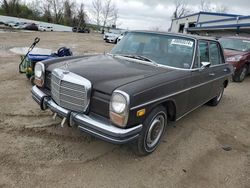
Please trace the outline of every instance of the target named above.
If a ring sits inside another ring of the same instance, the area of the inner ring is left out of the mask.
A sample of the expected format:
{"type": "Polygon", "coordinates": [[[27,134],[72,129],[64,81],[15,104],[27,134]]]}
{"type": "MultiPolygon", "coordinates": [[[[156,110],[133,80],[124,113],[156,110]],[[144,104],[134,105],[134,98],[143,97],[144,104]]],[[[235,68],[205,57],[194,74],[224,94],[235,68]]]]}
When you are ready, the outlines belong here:
{"type": "Polygon", "coordinates": [[[39,62],[33,99],[103,140],[153,152],[169,121],[216,106],[232,74],[218,41],[162,32],[128,32],[110,54],[39,62]]]}

